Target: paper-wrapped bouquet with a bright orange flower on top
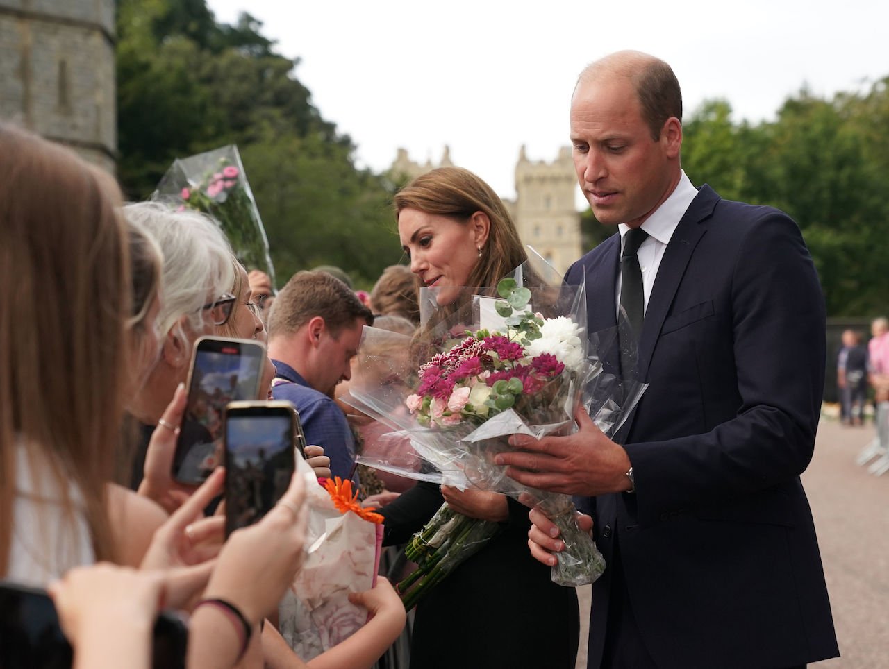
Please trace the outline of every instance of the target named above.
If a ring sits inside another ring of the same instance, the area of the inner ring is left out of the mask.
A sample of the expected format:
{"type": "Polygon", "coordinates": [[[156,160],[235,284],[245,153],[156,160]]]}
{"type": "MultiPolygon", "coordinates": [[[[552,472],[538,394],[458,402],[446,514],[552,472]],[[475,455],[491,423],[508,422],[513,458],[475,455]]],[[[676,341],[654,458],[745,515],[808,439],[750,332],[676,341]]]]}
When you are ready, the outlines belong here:
{"type": "Polygon", "coordinates": [[[348,601],[348,593],[376,584],[383,518],[362,508],[351,482],[337,477],[322,487],[308,464],[297,460],[308,490],[308,548],[278,607],[278,621],[284,640],[308,661],[367,622],[367,611],[348,601]]]}

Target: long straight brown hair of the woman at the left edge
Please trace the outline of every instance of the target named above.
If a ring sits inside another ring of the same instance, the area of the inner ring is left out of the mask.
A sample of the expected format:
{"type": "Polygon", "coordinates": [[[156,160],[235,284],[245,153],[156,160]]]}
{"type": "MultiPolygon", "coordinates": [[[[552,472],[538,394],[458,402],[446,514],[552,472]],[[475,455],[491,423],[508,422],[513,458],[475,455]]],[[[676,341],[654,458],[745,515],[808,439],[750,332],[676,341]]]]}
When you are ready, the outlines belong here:
{"type": "MultiPolygon", "coordinates": [[[[9,565],[16,458],[115,551],[115,469],[132,315],[120,191],[68,149],[0,123],[0,574],[9,565]],[[79,497],[79,498],[78,498],[79,497]],[[76,500],[76,501],[75,501],[76,500]]],[[[28,528],[36,531],[36,528],[28,528]]]]}

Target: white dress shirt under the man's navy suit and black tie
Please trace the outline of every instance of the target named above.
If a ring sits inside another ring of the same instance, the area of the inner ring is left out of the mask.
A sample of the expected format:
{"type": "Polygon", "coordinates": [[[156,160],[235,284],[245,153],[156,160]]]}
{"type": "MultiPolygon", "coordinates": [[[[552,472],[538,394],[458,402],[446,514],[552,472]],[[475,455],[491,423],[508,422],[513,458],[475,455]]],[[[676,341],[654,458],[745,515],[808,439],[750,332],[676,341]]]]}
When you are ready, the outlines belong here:
{"type": "MultiPolygon", "coordinates": [[[[685,171],[681,171],[676,188],[642,224],[642,229],[648,233],[648,236],[645,237],[645,242],[639,246],[637,257],[639,259],[639,267],[642,268],[642,290],[645,295],[646,310],[648,309],[648,297],[652,294],[654,279],[658,275],[658,267],[661,267],[661,258],[664,256],[664,250],[667,248],[670,237],[676,231],[679,220],[685,215],[685,211],[696,195],[698,195],[698,189],[685,176],[685,171]]],[[[628,230],[629,227],[625,223],[621,223],[618,226],[618,232],[621,233],[621,253],[623,252],[623,245],[628,230]]],[[[614,304],[616,313],[620,315],[621,272],[618,272],[617,276],[617,293],[614,304]]]]}

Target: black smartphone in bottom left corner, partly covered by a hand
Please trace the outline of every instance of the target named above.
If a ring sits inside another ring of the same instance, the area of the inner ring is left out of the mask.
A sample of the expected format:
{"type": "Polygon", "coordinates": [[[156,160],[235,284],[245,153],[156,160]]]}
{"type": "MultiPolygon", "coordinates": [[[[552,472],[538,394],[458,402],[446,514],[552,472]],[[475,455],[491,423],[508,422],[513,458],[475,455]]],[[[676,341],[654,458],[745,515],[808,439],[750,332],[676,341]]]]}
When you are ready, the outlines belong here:
{"type": "MultiPolygon", "coordinates": [[[[155,622],[152,667],[185,669],[188,628],[182,617],[161,611],[155,622]]],[[[0,583],[0,667],[69,669],[71,644],[59,624],[52,599],[44,591],[0,583]]]]}

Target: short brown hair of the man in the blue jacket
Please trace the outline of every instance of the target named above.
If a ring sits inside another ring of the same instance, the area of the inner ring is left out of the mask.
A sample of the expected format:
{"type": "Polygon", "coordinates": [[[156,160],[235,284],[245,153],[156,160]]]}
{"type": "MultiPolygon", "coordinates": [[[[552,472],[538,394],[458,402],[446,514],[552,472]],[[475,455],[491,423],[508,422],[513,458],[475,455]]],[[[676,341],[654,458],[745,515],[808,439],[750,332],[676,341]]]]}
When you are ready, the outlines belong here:
{"type": "Polygon", "coordinates": [[[373,314],[345,283],[326,272],[297,272],[277,294],[268,315],[268,336],[290,335],[316,316],[333,337],[361,318],[373,324],[373,314]]]}

